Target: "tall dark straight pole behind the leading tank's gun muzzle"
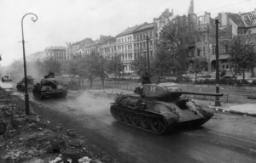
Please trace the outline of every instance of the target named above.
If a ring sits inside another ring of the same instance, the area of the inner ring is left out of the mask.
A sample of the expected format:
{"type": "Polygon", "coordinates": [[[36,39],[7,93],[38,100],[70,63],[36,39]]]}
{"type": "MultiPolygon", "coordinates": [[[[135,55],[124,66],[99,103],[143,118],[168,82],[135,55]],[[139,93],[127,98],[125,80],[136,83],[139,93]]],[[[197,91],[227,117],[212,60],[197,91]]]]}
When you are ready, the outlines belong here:
{"type": "MultiPolygon", "coordinates": [[[[219,70],[218,70],[218,20],[215,20],[216,25],[216,93],[219,93],[219,70]]],[[[220,106],[219,97],[215,97],[215,106],[220,106]]]]}

